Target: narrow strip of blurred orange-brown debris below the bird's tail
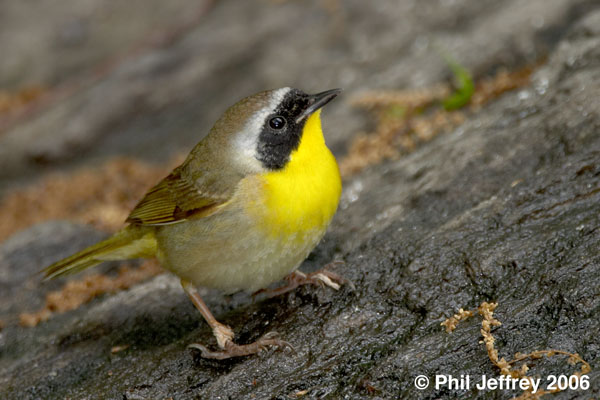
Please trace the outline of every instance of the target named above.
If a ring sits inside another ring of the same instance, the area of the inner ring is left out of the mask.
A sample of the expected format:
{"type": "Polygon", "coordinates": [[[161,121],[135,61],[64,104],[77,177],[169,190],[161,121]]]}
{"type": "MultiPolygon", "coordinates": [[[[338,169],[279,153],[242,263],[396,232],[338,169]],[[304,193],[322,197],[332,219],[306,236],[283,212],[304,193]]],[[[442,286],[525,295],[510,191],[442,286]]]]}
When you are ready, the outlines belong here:
{"type": "Polygon", "coordinates": [[[48,293],[46,304],[41,310],[19,315],[20,324],[34,327],[40,322],[46,321],[54,313],[74,310],[104,293],[127,289],[161,272],[163,270],[155,260],[147,260],[138,268],[123,265],[116,277],[93,274],[83,279],[71,280],[61,290],[48,293]]]}

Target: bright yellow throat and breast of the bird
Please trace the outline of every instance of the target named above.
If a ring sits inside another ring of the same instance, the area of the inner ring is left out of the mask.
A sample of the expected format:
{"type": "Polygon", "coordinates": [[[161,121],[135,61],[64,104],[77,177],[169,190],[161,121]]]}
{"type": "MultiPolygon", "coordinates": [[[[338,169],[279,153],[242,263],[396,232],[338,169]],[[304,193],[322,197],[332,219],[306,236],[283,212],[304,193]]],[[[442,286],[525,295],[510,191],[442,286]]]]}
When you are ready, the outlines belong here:
{"type": "Polygon", "coordinates": [[[260,228],[270,235],[322,234],[335,214],[342,182],[335,157],[325,145],[320,114],[317,110],[306,121],[300,144],[285,167],[261,176],[260,228]]]}

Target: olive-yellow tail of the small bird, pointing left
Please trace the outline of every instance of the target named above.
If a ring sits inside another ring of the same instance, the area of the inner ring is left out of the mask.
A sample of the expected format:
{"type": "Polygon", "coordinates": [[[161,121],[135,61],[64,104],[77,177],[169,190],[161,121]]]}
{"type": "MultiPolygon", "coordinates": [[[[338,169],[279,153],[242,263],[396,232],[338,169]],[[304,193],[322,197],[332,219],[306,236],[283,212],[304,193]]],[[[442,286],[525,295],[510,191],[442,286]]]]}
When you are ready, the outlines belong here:
{"type": "Polygon", "coordinates": [[[52,279],[83,271],[103,261],[153,257],[155,254],[156,239],[153,232],[128,226],[102,242],[55,262],[42,272],[46,275],[46,279],[52,279]]]}

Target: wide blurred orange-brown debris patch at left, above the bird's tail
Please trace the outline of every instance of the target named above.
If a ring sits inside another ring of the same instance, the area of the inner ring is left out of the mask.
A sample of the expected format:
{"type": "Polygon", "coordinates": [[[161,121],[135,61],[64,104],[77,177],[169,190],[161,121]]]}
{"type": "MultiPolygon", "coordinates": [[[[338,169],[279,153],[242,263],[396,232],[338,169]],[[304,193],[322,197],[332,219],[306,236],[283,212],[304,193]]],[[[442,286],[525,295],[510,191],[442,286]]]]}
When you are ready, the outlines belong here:
{"type": "Polygon", "coordinates": [[[69,174],[50,174],[0,200],[0,241],[30,225],[69,219],[103,230],[122,226],[144,193],[181,161],[153,166],[115,159],[99,168],[69,174]]]}

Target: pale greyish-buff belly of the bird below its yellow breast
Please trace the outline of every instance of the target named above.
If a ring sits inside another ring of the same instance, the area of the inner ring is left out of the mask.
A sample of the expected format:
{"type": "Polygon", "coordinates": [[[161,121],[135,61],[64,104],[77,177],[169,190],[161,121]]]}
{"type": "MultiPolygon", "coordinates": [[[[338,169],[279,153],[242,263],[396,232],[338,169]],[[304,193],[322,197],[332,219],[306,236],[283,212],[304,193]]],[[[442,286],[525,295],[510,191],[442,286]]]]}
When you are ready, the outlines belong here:
{"type": "Polygon", "coordinates": [[[225,292],[256,291],[291,273],[323,237],[326,226],[278,235],[232,207],[217,215],[156,231],[164,268],[194,285],[225,292]]]}

